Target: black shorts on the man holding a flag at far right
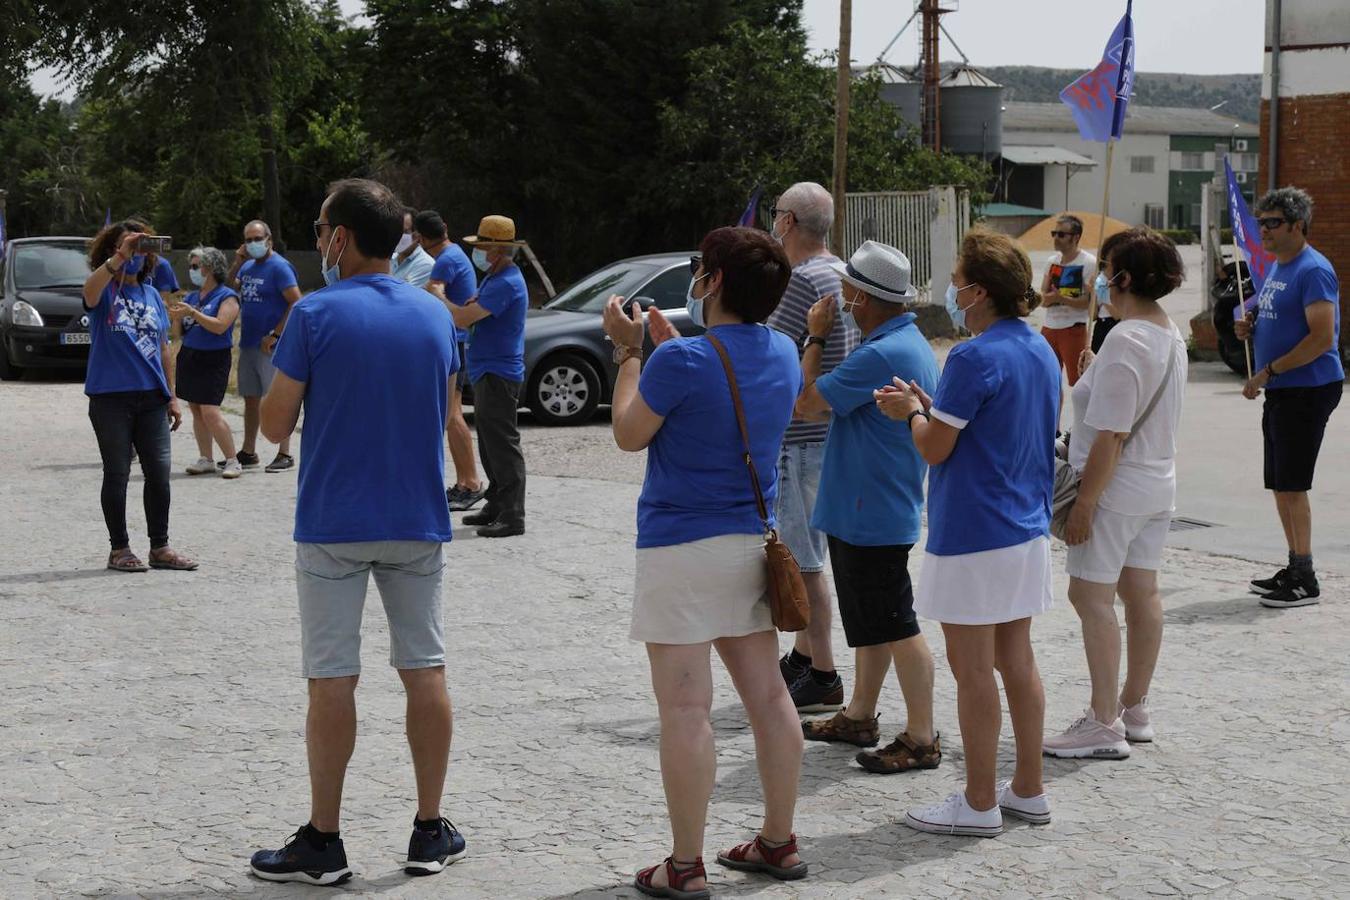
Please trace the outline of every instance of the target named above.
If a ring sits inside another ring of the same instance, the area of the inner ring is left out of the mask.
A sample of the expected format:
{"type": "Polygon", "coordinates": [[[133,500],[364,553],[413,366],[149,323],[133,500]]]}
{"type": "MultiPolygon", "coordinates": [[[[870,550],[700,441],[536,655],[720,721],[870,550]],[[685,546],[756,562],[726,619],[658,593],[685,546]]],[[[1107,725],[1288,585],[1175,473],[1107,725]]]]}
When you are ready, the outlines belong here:
{"type": "Polygon", "coordinates": [[[1318,451],[1331,410],[1341,402],[1341,382],[1316,387],[1266,389],[1261,413],[1265,437],[1265,484],[1268,491],[1310,491],[1318,451]]]}

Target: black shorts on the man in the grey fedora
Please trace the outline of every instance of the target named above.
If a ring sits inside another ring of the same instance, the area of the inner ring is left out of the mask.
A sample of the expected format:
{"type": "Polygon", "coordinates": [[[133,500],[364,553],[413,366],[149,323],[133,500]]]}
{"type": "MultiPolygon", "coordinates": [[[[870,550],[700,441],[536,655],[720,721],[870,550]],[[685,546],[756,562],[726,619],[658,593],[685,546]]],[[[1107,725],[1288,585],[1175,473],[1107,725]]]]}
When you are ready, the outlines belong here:
{"type": "Polygon", "coordinates": [[[903,641],[919,633],[910,582],[913,544],[857,546],[830,536],[830,569],[849,646],[903,641]]]}

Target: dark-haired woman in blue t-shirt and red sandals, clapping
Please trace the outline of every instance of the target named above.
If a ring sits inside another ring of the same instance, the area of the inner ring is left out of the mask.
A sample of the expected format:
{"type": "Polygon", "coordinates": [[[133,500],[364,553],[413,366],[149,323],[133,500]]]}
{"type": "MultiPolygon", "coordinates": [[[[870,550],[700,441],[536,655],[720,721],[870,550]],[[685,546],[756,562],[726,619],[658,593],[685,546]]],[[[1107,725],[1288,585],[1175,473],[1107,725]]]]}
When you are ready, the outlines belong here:
{"type": "MultiPolygon", "coordinates": [[[[688,312],[730,358],[749,434],[749,456],[768,509],[776,461],[802,386],[792,341],[763,325],[787,287],[791,264],[761,231],[718,228],[691,260],[688,312]]],[[[717,348],[680,337],[655,306],[641,368],[644,328],[610,297],[605,331],[614,341],[614,440],[647,449],[637,502],[637,584],[630,636],[647,644],[662,719],[662,781],[674,847],[664,865],[637,873],[653,896],[707,896],[703,827],[717,757],[709,708],[710,650],[732,675],[749,714],[764,787],[764,827],[720,853],[733,869],[801,878],[792,812],[802,768],[802,726],[778,669],[778,634],[765,602],[764,530],[747,448],[717,348]],[[674,893],[680,892],[680,893],[674,893]]],[[[636,305],[634,305],[636,306],[636,305]]]]}

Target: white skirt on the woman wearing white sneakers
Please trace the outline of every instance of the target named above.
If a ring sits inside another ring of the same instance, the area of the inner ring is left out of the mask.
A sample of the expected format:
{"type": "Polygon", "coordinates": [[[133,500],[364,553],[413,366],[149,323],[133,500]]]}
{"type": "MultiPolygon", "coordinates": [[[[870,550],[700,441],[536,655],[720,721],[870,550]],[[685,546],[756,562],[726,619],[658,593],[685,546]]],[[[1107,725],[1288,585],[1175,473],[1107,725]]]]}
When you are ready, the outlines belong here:
{"type": "Polygon", "coordinates": [[[1053,603],[1050,538],[996,551],[923,555],[914,611],[948,625],[999,625],[1040,615],[1053,603]]]}

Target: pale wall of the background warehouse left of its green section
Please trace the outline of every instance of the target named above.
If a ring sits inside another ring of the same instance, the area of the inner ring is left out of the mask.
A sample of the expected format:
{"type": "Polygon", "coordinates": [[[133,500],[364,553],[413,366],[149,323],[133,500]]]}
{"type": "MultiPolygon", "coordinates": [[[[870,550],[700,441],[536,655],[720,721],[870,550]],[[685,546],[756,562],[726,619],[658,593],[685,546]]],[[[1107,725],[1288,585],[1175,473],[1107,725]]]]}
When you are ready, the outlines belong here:
{"type": "MultiPolygon", "coordinates": [[[[1079,169],[1069,177],[1068,197],[1064,192],[1064,166],[1045,167],[1045,208],[1102,212],[1106,186],[1106,144],[1083,140],[1075,131],[1003,130],[1004,144],[1064,147],[1096,161],[1094,169],[1079,169]]],[[[1143,224],[1146,205],[1168,206],[1168,171],[1170,163],[1168,135],[1131,135],[1116,142],[1111,163],[1111,206],[1107,215],[1131,225],[1143,224]],[[1152,157],[1152,173],[1131,173],[1131,157],[1152,157]]]]}

